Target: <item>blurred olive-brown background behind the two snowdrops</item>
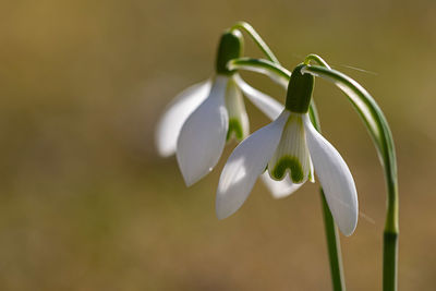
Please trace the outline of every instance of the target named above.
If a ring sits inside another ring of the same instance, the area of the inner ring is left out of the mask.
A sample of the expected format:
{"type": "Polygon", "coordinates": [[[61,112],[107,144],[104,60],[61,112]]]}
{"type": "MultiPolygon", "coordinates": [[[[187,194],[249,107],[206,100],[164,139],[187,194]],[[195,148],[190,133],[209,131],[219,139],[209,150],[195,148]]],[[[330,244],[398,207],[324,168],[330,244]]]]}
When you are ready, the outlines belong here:
{"type": "MultiPolygon", "coordinates": [[[[434,290],[435,15],[431,0],[1,1],[0,290],[330,289],[316,184],[276,201],[257,183],[219,221],[235,144],[190,189],[155,149],[165,106],[213,74],[220,33],[240,20],[288,69],[318,53],[378,101],[399,162],[400,290],[434,290]]],[[[283,101],[268,78],[243,75],[283,101]]],[[[359,192],[358,229],[341,237],[349,290],[380,290],[376,151],[337,88],[319,80],[314,98],[359,192]]],[[[268,122],[246,106],[253,131],[268,122]]]]}

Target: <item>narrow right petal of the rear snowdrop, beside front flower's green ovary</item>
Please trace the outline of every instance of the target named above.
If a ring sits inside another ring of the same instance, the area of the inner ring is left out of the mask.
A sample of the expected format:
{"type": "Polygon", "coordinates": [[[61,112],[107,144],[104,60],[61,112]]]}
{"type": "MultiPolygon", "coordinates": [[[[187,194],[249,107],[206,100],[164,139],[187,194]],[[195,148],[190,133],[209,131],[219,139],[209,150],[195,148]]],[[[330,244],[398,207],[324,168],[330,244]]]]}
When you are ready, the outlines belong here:
{"type": "Polygon", "coordinates": [[[234,74],[233,78],[244,95],[271,120],[278,118],[278,116],[283,111],[284,106],[268,95],[250,86],[240,75],[234,74]]]}

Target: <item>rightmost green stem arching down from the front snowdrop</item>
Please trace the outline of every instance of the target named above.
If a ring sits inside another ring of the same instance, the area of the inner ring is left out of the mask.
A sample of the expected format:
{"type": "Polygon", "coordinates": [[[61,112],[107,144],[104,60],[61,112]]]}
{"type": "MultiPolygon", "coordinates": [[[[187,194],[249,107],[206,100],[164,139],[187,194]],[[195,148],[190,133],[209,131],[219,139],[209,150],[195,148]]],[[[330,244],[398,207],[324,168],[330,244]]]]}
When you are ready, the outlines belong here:
{"type": "Polygon", "coordinates": [[[346,74],[319,65],[306,65],[302,72],[326,78],[337,85],[349,97],[373,137],[387,185],[383,290],[395,291],[398,281],[399,195],[397,157],[388,122],[370,93],[346,74]]]}

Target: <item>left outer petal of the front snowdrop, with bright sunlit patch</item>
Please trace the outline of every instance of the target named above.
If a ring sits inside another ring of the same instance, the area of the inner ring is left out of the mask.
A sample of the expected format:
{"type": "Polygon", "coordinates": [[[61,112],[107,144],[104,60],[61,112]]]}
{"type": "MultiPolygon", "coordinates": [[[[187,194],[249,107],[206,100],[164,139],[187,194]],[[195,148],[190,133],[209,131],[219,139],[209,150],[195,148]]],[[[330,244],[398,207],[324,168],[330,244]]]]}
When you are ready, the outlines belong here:
{"type": "Polygon", "coordinates": [[[245,138],[230,155],[219,178],[216,211],[219,219],[235,213],[264,172],[280,141],[289,111],[245,138]]]}

